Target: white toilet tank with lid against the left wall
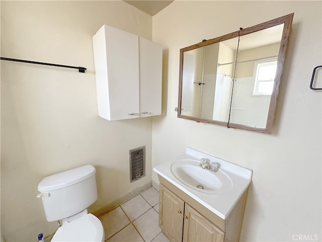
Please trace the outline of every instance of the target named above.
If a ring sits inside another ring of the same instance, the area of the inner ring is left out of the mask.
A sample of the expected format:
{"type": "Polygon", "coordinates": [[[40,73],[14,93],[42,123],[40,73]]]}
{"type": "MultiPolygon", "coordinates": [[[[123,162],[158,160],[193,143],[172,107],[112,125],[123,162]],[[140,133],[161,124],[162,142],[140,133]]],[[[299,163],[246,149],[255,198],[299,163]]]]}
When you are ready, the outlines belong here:
{"type": "Polygon", "coordinates": [[[84,165],[44,177],[38,184],[47,221],[75,215],[97,200],[93,165],[84,165]]]}

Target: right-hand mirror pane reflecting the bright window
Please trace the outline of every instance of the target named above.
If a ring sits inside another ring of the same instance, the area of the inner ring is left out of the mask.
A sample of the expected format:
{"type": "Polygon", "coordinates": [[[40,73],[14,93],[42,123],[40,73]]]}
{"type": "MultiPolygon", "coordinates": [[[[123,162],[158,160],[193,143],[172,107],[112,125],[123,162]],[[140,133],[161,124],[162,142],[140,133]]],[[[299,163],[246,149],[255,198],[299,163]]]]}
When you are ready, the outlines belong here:
{"type": "Polygon", "coordinates": [[[229,123],[266,128],[283,27],[240,36],[229,123]]]}

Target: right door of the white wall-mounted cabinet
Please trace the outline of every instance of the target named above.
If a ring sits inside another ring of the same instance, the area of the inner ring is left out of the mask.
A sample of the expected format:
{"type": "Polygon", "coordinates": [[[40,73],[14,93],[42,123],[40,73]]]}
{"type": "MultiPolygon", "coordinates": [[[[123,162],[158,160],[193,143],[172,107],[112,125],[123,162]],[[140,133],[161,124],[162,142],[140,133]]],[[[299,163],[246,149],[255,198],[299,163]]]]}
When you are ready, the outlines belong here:
{"type": "Polygon", "coordinates": [[[162,45],[139,37],[140,116],[161,114],[162,45]]]}

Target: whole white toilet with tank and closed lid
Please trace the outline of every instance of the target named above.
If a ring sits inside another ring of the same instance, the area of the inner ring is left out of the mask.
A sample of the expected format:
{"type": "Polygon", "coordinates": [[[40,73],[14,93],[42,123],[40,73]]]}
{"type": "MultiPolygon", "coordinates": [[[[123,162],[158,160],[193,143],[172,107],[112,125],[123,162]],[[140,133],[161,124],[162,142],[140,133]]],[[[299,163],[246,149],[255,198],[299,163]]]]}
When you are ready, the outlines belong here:
{"type": "Polygon", "coordinates": [[[97,200],[96,169],[84,165],[44,177],[38,191],[48,222],[62,220],[51,241],[104,242],[101,221],[87,208],[97,200]]]}

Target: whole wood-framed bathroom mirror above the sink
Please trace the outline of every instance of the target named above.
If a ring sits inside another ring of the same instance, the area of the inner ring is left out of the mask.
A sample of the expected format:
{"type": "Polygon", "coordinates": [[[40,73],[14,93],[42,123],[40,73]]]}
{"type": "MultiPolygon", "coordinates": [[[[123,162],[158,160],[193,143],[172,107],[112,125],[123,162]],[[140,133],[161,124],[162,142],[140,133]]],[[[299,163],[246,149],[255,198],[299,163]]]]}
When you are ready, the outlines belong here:
{"type": "Polygon", "coordinates": [[[178,117],[270,134],[292,19],[182,48],[178,117]]]}

